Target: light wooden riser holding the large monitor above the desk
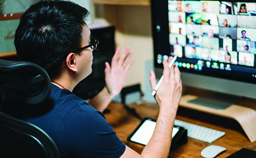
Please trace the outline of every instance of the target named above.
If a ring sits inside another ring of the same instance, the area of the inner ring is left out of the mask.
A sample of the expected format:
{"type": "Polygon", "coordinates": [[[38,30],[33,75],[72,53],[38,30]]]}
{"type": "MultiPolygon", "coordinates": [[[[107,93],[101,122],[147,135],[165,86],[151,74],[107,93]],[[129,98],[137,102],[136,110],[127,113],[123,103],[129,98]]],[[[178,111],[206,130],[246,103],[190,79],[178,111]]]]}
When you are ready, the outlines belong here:
{"type": "Polygon", "coordinates": [[[219,94],[209,95],[204,92],[201,94],[186,93],[182,95],[179,106],[234,119],[241,125],[250,142],[256,141],[255,99],[240,98],[239,100],[234,96],[227,99],[226,95],[219,97],[219,94]],[[232,100],[233,97],[234,100],[232,100]]]}

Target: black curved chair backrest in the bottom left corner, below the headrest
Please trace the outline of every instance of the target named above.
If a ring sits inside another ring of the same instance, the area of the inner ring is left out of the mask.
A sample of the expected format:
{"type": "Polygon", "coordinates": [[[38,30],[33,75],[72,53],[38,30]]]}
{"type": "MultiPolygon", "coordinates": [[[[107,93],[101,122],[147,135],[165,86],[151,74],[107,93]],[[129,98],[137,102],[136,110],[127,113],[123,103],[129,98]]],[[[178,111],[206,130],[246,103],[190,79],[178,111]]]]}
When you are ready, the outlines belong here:
{"type": "Polygon", "coordinates": [[[0,112],[0,129],[0,157],[60,157],[51,137],[33,124],[0,112]]]}

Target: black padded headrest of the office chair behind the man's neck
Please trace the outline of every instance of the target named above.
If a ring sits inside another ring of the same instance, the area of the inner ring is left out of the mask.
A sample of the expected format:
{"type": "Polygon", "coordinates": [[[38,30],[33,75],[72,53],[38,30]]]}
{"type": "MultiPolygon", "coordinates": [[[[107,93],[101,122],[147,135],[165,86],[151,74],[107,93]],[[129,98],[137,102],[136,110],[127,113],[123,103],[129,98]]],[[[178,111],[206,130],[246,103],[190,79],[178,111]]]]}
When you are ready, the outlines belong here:
{"type": "Polygon", "coordinates": [[[38,104],[50,96],[51,81],[35,63],[0,59],[0,93],[26,104],[38,104]]]}

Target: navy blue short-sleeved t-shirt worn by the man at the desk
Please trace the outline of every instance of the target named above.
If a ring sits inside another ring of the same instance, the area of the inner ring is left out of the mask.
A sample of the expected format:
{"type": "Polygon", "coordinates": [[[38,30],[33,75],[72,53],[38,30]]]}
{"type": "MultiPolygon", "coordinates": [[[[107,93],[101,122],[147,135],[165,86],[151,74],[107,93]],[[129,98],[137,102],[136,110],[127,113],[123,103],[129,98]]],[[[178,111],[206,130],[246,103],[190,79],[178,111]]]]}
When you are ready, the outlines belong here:
{"type": "Polygon", "coordinates": [[[44,130],[55,141],[62,157],[120,157],[123,154],[125,145],[102,112],[71,91],[51,86],[51,95],[43,105],[6,107],[10,100],[3,101],[3,112],[44,130]]]}

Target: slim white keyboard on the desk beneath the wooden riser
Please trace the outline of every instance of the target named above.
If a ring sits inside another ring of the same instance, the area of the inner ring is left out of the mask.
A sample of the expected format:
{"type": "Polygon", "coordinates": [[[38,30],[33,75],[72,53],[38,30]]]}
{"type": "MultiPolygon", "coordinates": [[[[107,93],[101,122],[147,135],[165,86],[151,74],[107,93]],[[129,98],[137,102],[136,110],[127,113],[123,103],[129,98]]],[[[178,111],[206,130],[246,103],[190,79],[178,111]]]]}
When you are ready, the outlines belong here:
{"type": "Polygon", "coordinates": [[[202,140],[208,143],[213,142],[214,140],[225,135],[225,132],[213,130],[207,127],[190,124],[184,121],[175,120],[174,125],[183,127],[187,130],[187,136],[190,138],[202,140]]]}

